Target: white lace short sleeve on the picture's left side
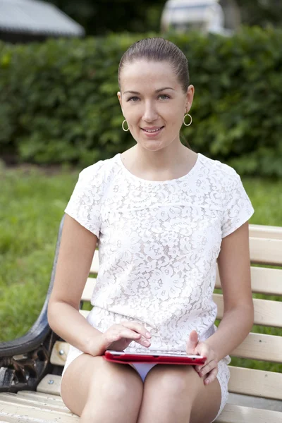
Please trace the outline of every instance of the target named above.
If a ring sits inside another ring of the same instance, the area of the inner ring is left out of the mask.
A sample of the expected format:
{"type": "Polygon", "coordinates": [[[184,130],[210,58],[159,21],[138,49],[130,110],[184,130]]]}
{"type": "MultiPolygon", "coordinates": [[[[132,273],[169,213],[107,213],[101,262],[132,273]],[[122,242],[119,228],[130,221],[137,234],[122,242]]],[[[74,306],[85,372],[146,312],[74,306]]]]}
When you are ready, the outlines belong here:
{"type": "Polygon", "coordinates": [[[99,238],[100,209],[104,190],[102,161],[83,169],[75,185],[71,198],[64,210],[80,225],[99,238]]]}

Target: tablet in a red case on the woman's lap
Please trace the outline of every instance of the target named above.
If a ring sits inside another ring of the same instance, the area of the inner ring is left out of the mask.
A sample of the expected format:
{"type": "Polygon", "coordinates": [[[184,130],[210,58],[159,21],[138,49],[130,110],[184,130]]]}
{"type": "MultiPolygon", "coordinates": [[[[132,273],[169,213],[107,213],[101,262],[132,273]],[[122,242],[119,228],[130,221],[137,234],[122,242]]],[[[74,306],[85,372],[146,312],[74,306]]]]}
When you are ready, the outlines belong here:
{"type": "Polygon", "coordinates": [[[142,351],[127,353],[125,351],[106,350],[104,359],[117,363],[160,363],[160,364],[204,364],[207,357],[186,353],[174,353],[167,351],[142,351]]]}

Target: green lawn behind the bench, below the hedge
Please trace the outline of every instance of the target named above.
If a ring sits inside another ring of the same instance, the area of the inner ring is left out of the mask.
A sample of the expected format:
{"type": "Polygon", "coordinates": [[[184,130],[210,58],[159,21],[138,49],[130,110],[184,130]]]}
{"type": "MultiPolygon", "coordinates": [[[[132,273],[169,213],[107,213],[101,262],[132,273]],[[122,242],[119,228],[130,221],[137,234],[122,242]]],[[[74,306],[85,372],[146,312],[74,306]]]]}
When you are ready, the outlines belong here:
{"type": "MultiPolygon", "coordinates": [[[[0,341],[26,333],[42,309],[59,223],[79,171],[65,167],[47,176],[33,167],[0,167],[0,341]]],[[[282,226],[282,180],[242,180],[255,208],[250,223],[282,226]]],[[[233,364],[240,362],[236,360],[233,364]]],[[[266,366],[249,361],[242,363],[266,366]]],[[[267,368],[277,370],[277,365],[267,368]]]]}

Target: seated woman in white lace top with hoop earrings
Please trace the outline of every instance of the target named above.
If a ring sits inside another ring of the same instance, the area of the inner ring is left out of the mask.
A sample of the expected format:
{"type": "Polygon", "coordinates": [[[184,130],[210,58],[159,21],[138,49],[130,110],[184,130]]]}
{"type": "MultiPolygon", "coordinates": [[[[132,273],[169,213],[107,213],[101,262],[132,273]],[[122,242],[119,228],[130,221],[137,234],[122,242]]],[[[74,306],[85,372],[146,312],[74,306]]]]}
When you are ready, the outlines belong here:
{"type": "Polygon", "coordinates": [[[194,87],[175,44],[133,44],[118,83],[123,130],[136,145],[82,170],[65,209],[49,302],[51,328],[71,344],[61,396],[83,423],[210,423],[228,398],[228,354],[253,323],[247,220],[254,210],[233,168],[180,142],[194,87]],[[78,309],[97,243],[94,307],[85,320],[78,309]],[[224,298],[218,330],[216,261],[224,298]],[[130,366],[102,357],[106,349],[147,348],[207,361],[130,366]]]}

